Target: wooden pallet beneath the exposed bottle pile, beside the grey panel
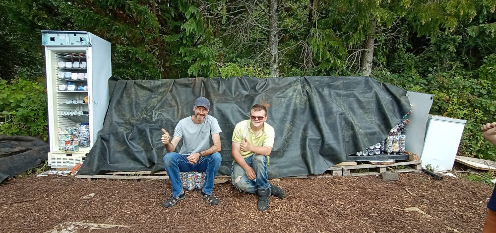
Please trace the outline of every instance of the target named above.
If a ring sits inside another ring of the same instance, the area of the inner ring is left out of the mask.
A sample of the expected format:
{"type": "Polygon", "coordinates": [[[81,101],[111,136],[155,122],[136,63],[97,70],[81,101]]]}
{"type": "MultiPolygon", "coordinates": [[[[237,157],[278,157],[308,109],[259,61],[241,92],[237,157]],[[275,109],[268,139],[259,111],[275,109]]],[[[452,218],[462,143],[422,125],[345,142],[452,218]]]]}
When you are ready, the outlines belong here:
{"type": "Polygon", "coordinates": [[[412,172],[420,174],[422,173],[422,161],[417,160],[396,162],[391,164],[358,164],[352,166],[334,166],[329,168],[327,171],[330,171],[332,176],[372,176],[384,174],[387,170],[396,173],[412,172]],[[395,169],[394,167],[396,166],[405,166],[407,168],[395,169]],[[369,171],[362,171],[364,169],[368,169],[369,171]]]}

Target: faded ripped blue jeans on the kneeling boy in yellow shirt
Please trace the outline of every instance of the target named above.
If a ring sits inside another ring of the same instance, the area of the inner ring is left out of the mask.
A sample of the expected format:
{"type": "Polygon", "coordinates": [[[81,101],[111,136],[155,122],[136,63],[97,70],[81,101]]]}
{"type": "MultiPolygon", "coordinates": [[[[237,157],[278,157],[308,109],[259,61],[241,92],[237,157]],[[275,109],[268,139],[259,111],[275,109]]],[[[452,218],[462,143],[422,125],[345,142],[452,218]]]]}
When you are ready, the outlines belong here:
{"type": "Polygon", "coordinates": [[[245,158],[248,166],[255,171],[256,179],[248,179],[245,169],[234,162],[232,167],[233,185],[240,191],[255,193],[258,189],[268,189],[270,184],[267,181],[267,156],[253,153],[245,158]],[[238,181],[238,177],[241,178],[238,181]]]}

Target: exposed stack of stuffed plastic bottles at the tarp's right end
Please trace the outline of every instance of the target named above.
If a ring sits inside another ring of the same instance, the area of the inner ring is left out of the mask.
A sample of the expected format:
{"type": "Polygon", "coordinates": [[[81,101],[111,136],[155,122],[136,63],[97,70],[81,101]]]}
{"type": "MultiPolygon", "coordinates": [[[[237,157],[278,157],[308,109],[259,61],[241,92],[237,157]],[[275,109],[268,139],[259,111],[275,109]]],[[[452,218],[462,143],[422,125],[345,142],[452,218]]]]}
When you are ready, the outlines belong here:
{"type": "Polygon", "coordinates": [[[355,154],[358,156],[379,155],[379,154],[396,154],[405,152],[406,140],[406,124],[408,124],[408,115],[412,111],[403,116],[398,125],[389,130],[389,136],[381,142],[371,145],[363,151],[358,151],[355,154]]]}

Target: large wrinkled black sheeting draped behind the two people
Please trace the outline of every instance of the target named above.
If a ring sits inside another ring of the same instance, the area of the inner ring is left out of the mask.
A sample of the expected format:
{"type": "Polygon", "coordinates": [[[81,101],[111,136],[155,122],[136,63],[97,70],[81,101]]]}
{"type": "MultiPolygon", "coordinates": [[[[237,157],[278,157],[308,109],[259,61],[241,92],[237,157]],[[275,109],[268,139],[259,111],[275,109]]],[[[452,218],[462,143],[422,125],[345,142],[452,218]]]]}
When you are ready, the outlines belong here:
{"type": "Polygon", "coordinates": [[[276,132],[269,178],[321,174],[384,140],[410,111],[405,90],[370,77],[119,80],[110,89],[104,127],[78,174],[164,170],[161,128],[172,136],[198,96],[223,131],[220,174],[231,175],[234,126],[253,104],[267,107],[276,132]]]}

